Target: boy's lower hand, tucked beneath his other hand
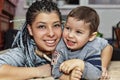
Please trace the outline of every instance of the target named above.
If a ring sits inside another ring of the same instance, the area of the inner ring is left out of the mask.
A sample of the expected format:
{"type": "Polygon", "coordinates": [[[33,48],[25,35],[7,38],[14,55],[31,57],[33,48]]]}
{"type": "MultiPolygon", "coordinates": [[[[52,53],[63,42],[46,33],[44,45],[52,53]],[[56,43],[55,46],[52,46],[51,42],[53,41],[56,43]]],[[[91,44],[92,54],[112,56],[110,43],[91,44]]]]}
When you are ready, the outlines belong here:
{"type": "Polygon", "coordinates": [[[81,69],[79,67],[75,67],[70,75],[70,80],[80,80],[82,76],[81,69]]]}

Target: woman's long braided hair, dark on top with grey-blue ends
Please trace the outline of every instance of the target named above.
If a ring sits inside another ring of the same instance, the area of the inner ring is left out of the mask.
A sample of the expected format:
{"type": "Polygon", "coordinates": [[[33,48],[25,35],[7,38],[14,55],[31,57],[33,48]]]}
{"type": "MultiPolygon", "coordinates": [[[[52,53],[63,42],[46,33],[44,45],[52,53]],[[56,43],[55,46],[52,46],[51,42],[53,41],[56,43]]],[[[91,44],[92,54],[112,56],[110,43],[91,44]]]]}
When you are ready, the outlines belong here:
{"type": "MultiPolygon", "coordinates": [[[[27,10],[26,13],[26,21],[22,27],[22,29],[17,33],[17,36],[12,44],[12,48],[20,47],[22,51],[25,53],[27,58],[30,57],[30,53],[34,52],[35,42],[32,37],[29,35],[27,25],[32,25],[36,16],[40,13],[51,13],[55,12],[59,18],[61,19],[61,13],[59,8],[57,7],[56,3],[52,2],[51,0],[40,0],[34,2],[27,10]],[[28,57],[29,56],[29,57],[28,57]]],[[[29,61],[29,59],[27,59],[29,61]]],[[[29,61],[29,66],[33,66],[32,63],[29,61]]]]}

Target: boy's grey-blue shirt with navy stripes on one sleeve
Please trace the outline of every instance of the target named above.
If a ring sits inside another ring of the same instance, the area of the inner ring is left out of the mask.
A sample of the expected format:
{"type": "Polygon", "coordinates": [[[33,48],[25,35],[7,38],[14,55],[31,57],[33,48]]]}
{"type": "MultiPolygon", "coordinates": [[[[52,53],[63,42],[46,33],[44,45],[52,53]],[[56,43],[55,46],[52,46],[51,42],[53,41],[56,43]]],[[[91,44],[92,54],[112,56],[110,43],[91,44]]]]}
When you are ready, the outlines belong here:
{"type": "Polygon", "coordinates": [[[85,62],[82,77],[89,80],[98,80],[101,76],[101,51],[107,45],[107,40],[96,37],[95,40],[88,42],[82,49],[71,51],[61,40],[56,49],[57,58],[53,57],[53,76],[59,78],[63,74],[59,72],[59,66],[62,62],[69,59],[81,59],[85,62]]]}

